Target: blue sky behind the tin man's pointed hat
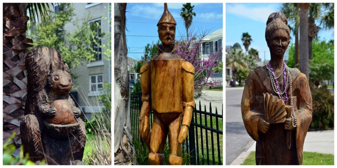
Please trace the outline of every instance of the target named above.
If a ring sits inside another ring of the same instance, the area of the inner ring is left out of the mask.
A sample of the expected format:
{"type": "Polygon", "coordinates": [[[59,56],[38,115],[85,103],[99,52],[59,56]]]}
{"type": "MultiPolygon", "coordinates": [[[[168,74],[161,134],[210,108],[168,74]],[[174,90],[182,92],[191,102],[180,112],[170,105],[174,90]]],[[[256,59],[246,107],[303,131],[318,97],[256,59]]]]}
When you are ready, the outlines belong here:
{"type": "MultiPolygon", "coordinates": [[[[177,22],[175,40],[180,36],[186,36],[183,20],[180,17],[180,9],[183,3],[168,3],[169,12],[177,22]]],[[[223,28],[223,3],[192,3],[193,11],[192,27],[194,31],[206,31],[212,33],[223,28]]],[[[157,23],[164,12],[164,3],[127,3],[126,8],[126,42],[128,57],[140,60],[147,43],[156,43],[158,38],[157,23]],[[148,37],[150,36],[150,37],[148,37]]]]}

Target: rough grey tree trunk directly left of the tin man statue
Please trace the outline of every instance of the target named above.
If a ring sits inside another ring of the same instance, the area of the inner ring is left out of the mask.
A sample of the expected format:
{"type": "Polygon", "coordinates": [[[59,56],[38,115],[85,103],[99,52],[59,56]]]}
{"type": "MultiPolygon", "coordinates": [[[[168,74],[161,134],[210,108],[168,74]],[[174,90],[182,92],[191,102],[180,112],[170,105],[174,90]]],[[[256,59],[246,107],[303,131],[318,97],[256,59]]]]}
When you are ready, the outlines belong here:
{"type": "Polygon", "coordinates": [[[126,3],[114,3],[114,164],[135,165],[128,108],[129,77],[125,37],[126,3]]]}

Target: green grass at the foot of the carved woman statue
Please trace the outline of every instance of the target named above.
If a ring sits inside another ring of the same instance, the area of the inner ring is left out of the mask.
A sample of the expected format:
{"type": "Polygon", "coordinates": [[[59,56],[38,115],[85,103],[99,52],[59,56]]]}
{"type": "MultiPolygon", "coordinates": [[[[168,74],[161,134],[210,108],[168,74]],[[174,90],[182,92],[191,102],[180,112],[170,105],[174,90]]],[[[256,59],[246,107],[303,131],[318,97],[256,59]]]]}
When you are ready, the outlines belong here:
{"type": "MultiPolygon", "coordinates": [[[[255,152],[251,152],[241,165],[255,165],[255,152]]],[[[334,165],[334,155],[303,152],[302,165],[334,165]]]]}

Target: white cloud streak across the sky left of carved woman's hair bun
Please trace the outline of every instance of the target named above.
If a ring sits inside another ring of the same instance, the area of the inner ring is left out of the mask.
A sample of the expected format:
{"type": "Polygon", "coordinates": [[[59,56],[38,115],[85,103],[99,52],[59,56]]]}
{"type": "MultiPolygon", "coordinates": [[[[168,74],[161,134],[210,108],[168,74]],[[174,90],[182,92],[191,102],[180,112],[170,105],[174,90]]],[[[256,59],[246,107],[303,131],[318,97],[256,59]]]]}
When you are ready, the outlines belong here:
{"type": "Polygon", "coordinates": [[[265,23],[272,12],[276,12],[275,4],[261,7],[248,7],[247,4],[226,4],[226,13],[247,17],[265,23]]]}

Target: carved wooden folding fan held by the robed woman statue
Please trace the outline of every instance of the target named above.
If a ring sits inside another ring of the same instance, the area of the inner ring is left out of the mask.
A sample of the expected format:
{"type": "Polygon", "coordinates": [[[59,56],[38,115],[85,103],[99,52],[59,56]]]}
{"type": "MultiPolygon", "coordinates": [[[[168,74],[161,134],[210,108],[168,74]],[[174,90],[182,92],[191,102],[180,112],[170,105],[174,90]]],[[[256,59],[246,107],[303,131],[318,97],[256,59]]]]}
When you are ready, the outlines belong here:
{"type": "Polygon", "coordinates": [[[265,119],[270,124],[285,122],[285,105],[281,99],[270,93],[263,93],[265,106],[265,119]]]}

